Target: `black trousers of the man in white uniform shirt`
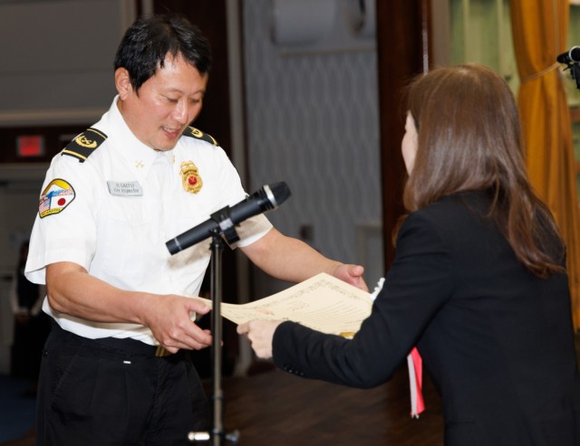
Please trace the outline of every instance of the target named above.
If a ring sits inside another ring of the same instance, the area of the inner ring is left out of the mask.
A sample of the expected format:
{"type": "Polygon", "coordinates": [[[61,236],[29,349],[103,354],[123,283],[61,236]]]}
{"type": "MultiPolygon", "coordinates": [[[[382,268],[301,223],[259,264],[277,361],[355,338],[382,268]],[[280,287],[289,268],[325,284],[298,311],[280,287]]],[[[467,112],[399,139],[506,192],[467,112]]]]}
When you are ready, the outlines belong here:
{"type": "Polygon", "coordinates": [[[46,340],[36,408],[38,446],[187,445],[208,430],[191,353],[157,357],[132,339],[87,339],[56,324],[46,340]]]}

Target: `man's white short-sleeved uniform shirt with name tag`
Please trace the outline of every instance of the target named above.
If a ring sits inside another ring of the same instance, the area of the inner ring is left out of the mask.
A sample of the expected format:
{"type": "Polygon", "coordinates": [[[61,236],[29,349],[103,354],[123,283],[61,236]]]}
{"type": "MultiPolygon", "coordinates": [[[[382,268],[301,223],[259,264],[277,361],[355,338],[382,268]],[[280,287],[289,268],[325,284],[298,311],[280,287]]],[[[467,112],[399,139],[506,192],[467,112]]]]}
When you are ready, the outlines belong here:
{"type": "MultiPolygon", "coordinates": [[[[84,162],[61,154],[53,158],[34,222],[26,277],[44,284],[47,265],[72,261],[120,289],[198,295],[211,239],[175,255],[165,243],[247,194],[221,147],[183,136],[172,150],[157,152],[131,133],[117,99],[92,126],[107,138],[84,162]],[[198,168],[202,186],[197,194],[186,190],[187,177],[184,185],[180,173],[182,163],[188,162],[198,168]]],[[[84,142],[91,146],[91,140],[84,142]]],[[[256,242],[271,228],[263,215],[248,219],[237,227],[236,244],[256,242]]],[[[74,318],[55,312],[48,299],[43,310],[82,337],[156,343],[148,328],[136,324],[74,318]]]]}

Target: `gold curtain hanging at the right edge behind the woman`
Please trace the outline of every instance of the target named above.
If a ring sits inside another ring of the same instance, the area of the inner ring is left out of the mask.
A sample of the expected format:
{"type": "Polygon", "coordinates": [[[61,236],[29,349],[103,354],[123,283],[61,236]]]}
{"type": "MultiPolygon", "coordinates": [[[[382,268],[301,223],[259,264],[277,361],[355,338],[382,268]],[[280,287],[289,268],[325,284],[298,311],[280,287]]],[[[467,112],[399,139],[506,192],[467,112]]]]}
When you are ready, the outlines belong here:
{"type": "Polygon", "coordinates": [[[537,195],[554,213],[567,247],[572,311],[578,329],[580,221],[575,159],[565,78],[556,63],[557,54],[566,50],[568,1],[511,0],[510,7],[528,174],[537,195]]]}

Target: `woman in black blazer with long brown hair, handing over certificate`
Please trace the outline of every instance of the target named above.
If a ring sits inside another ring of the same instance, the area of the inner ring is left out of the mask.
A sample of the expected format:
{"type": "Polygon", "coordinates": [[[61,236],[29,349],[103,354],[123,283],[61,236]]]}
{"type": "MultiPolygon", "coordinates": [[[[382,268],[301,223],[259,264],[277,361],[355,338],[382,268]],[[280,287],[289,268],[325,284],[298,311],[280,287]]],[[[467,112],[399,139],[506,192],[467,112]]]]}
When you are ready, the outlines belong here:
{"type": "Polygon", "coordinates": [[[371,387],[417,346],[449,446],[580,445],[580,375],[565,246],[527,180],[517,105],[477,64],[408,90],[409,212],[372,314],[352,340],[293,322],[238,327],[307,378],[371,387]]]}

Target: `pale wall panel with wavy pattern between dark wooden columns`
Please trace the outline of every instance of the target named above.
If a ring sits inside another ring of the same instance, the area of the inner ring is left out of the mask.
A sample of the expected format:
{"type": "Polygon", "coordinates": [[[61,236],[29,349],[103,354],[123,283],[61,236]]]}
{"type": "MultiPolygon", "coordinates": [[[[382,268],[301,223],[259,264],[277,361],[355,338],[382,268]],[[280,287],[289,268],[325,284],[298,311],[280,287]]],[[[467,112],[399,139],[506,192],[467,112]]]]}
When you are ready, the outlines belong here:
{"type": "MultiPolygon", "coordinates": [[[[283,55],[270,7],[244,2],[248,192],[285,181],[292,196],[267,214],[275,226],[291,236],[309,226],[316,249],[359,261],[357,227],[382,218],[376,51],[283,55]]],[[[372,287],[382,256],[369,272],[372,287]]]]}

